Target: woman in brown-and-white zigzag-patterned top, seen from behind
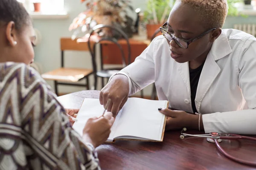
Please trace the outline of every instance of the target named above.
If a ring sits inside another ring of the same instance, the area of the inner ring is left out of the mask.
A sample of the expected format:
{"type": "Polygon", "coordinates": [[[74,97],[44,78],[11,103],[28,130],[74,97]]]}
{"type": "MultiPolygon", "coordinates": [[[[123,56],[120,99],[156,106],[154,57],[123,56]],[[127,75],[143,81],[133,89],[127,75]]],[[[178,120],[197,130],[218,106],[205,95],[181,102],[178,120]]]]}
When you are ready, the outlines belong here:
{"type": "Polygon", "coordinates": [[[112,113],[89,119],[79,136],[50,86],[28,66],[34,40],[23,6],[0,0],[0,169],[100,169],[95,147],[108,139],[112,113]]]}

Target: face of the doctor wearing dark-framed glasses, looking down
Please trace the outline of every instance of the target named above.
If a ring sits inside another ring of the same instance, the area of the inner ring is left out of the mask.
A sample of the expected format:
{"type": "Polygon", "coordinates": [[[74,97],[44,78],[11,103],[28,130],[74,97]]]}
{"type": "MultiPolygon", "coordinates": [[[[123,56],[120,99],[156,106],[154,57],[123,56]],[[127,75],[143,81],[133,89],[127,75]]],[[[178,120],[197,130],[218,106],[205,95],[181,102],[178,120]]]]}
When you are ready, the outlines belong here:
{"type": "Polygon", "coordinates": [[[171,34],[170,37],[178,38],[176,41],[172,38],[167,40],[171,57],[176,62],[202,60],[202,58],[207,57],[212,46],[211,40],[215,30],[206,28],[205,25],[201,16],[194,9],[181,3],[175,4],[169,15],[165,30],[171,34]],[[193,39],[195,41],[190,41],[189,45],[186,46],[186,41],[193,39]],[[181,43],[178,44],[179,40],[185,40],[182,42],[183,47],[180,45],[181,43]]]}

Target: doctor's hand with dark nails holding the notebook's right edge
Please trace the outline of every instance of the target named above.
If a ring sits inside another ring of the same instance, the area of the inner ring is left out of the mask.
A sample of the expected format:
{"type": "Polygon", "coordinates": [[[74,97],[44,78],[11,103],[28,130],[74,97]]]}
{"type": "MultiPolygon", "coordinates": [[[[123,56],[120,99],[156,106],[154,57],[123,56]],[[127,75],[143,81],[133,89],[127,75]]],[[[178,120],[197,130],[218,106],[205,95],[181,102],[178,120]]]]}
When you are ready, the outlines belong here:
{"type": "Polygon", "coordinates": [[[185,111],[172,111],[164,108],[158,110],[160,110],[160,113],[167,116],[166,130],[177,130],[182,129],[183,127],[198,130],[199,115],[189,114],[185,111]]]}

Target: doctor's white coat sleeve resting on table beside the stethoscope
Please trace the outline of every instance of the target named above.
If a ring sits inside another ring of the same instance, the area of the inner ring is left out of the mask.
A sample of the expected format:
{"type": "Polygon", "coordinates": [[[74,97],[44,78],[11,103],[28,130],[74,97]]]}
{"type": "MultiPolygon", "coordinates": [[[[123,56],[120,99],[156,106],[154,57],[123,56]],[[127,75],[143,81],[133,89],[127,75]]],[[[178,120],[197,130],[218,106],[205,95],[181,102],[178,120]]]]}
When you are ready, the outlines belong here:
{"type": "MultiPolygon", "coordinates": [[[[254,39],[254,40],[252,40],[254,39]]],[[[247,102],[247,110],[204,114],[201,125],[205,133],[256,134],[256,41],[244,43],[238,59],[239,87],[247,102]]]]}

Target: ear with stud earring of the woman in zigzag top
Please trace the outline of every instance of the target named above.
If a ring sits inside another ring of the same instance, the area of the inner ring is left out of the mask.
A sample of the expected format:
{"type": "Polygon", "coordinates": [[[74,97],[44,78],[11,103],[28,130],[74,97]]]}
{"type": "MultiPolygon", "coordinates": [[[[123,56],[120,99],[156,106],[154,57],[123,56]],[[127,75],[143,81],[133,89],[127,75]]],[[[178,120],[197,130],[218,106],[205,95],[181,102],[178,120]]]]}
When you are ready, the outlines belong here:
{"type": "Polygon", "coordinates": [[[10,21],[6,26],[6,39],[12,47],[17,45],[17,30],[13,21],[10,21]]]}

